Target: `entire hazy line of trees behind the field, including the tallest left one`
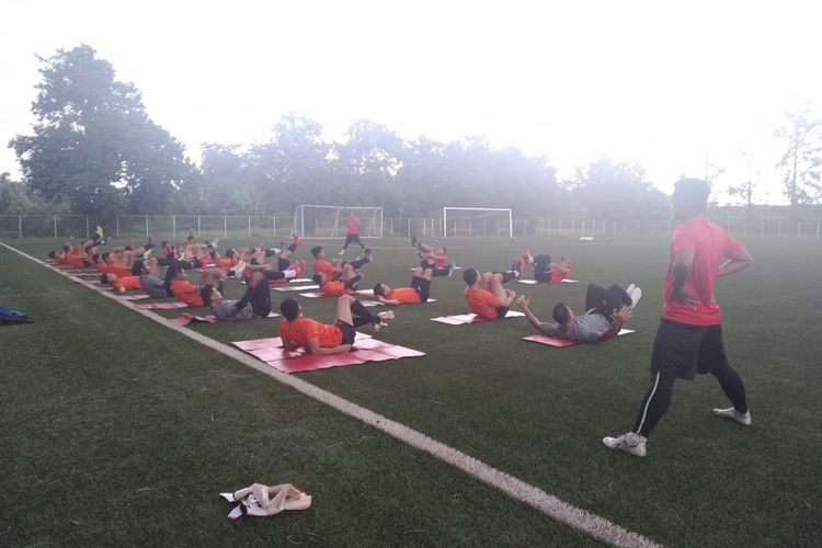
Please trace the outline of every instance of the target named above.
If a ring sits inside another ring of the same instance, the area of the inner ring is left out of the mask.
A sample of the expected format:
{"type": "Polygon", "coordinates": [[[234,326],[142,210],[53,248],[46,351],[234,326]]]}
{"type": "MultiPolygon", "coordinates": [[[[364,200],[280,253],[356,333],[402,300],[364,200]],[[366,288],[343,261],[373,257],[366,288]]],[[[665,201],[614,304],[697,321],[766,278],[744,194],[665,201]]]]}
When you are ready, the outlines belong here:
{"type": "MultiPolygon", "coordinates": [[[[89,215],[287,215],[298,204],[383,206],[388,216],[431,216],[444,205],[512,207],[518,216],[663,218],[667,199],[640,165],[602,157],[558,181],[544,156],[493,149],[479,137],[407,140],[361,119],[344,139],[287,114],[264,144],[209,142],[194,164],[156,124],[139,90],[81,45],[42,60],[33,135],[9,144],[23,181],[0,175],[0,213],[89,215]]],[[[820,198],[822,125],[799,113],[779,136],[791,204],[820,198]]],[[[750,201],[753,183],[738,192],[750,201]],[[743,193],[747,194],[743,194],[743,193]]]]}

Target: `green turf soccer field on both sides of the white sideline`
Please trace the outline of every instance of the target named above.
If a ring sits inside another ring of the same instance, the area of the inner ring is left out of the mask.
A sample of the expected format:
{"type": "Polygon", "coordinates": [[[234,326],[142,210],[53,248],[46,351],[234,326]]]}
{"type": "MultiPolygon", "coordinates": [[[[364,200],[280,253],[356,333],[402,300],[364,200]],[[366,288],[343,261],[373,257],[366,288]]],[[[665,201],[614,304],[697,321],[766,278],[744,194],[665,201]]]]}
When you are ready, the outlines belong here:
{"type": "MultiPolygon", "coordinates": [[[[5,243],[45,259],[61,242],[5,243]]],[[[308,259],[312,243],[296,255],[308,259]]],[[[339,246],[320,243],[329,255],[339,246]]],[[[367,243],[375,261],[361,287],[408,285],[419,262],[408,241],[367,243]]],[[[482,270],[504,270],[525,249],[572,258],[579,284],[507,284],[546,320],[556,302],[582,309],[590,282],[637,283],[643,297],[627,326],[636,333],[555,349],[523,341],[533,333],[524,318],[430,321],[467,311],[457,271],[434,279],[436,302],[395,307],[376,335],[425,356],[298,377],[654,543],[819,546],[822,246],[743,243],[753,266],[719,279],[716,293],[753,425],[712,415],[727,407],[712,377],[677,381],[644,459],[601,439],[630,429],[648,388],[665,236],[446,242],[449,259],[482,270]]],[[[34,319],[0,331],[0,546],[601,544],[13,251],[0,247],[0,305],[34,319]],[[253,482],[295,483],[313,504],[227,521],[217,493],[253,482]]],[[[228,298],[242,290],[227,283],[228,298]]],[[[296,294],[273,292],[275,309],[285,296],[296,294]]],[[[299,299],[308,317],[333,320],[334,299],[299,299]]],[[[185,329],[230,343],[274,336],[277,323],[185,329]]]]}

